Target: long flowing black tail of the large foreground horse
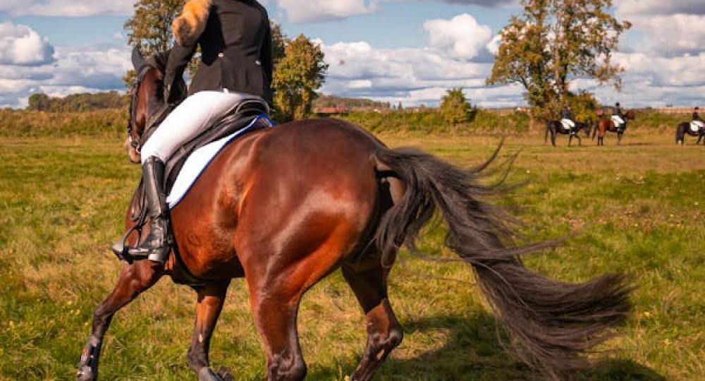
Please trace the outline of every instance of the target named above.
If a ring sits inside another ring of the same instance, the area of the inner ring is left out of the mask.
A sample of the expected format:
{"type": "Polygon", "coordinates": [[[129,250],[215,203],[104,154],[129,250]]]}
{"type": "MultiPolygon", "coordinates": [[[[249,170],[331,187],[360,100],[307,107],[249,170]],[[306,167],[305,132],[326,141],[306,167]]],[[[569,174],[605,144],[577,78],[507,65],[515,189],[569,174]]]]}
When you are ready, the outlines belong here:
{"type": "Polygon", "coordinates": [[[587,364],[582,353],[611,337],[625,320],[632,286],[621,274],[581,284],[558,282],[527,269],[518,255],[553,247],[552,242],[517,246],[517,219],[483,200],[504,193],[502,182],[480,179],[499,149],[484,164],[460,169],[413,148],[381,150],[377,159],[405,183],[403,196],[382,215],[376,245],[391,263],[400,246],[414,250],[422,227],[436,210],[447,226],[446,246],[470,263],[477,284],[522,361],[557,380],[564,370],[587,364]]]}

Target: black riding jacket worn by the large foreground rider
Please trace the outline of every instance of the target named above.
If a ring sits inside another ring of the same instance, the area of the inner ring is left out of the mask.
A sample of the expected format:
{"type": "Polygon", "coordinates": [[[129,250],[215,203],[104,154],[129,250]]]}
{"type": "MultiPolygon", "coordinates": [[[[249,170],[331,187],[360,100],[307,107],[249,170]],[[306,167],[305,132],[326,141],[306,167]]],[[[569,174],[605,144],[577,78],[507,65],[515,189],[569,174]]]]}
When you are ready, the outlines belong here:
{"type": "Polygon", "coordinates": [[[176,45],[169,54],[164,83],[171,86],[201,47],[198,70],[188,94],[206,90],[244,92],[271,105],[271,28],[256,0],[212,0],[205,29],[195,44],[176,45]]]}

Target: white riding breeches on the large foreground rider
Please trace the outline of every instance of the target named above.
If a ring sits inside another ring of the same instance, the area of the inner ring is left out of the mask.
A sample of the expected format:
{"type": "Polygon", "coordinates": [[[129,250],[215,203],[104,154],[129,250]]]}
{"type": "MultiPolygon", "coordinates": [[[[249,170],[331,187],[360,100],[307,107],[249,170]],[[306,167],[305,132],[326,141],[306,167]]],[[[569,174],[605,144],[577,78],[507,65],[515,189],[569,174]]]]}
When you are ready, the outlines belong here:
{"type": "Polygon", "coordinates": [[[182,145],[200,135],[245,99],[260,98],[226,91],[201,91],[186,98],[147,139],[142,147],[142,164],[152,156],[166,163],[182,145]]]}

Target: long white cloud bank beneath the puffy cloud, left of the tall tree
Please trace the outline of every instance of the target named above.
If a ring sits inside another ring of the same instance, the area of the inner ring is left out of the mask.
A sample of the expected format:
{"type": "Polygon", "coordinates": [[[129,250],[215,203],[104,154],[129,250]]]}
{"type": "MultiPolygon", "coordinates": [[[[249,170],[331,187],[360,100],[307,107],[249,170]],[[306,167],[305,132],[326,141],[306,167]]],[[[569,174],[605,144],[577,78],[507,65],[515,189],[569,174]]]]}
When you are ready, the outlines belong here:
{"type": "Polygon", "coordinates": [[[455,59],[434,48],[376,49],[367,42],[323,45],[326,93],[406,105],[437,104],[450,87],[464,87],[483,106],[522,104],[517,87],[484,85],[491,63],[455,59]]]}

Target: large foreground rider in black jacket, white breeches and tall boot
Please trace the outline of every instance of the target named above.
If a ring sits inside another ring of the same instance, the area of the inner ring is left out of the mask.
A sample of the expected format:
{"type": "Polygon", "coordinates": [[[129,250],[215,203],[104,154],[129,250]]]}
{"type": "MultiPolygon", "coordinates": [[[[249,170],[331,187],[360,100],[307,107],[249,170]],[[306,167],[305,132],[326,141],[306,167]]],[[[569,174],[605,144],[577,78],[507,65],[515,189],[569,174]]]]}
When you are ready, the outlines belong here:
{"type": "Polygon", "coordinates": [[[189,97],[174,109],[142,147],[142,180],[149,236],[128,253],[135,259],[164,263],[171,252],[168,206],[164,194],[165,162],[178,147],[228,113],[244,99],[272,104],[271,28],[257,0],[188,0],[173,22],[176,46],[164,75],[164,100],[201,47],[200,63],[189,97]]]}

